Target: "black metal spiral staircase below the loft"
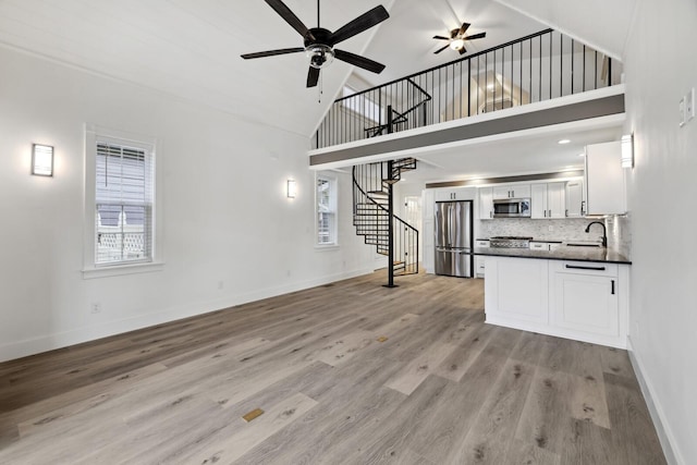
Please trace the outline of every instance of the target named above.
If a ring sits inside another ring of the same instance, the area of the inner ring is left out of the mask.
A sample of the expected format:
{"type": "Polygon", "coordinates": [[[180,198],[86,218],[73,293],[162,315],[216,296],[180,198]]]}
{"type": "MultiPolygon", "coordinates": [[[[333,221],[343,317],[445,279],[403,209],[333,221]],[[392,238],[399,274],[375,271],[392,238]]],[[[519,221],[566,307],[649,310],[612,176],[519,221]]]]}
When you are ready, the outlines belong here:
{"type": "Polygon", "coordinates": [[[418,273],[418,231],[392,208],[392,186],[415,169],[414,158],[353,167],[353,223],[366,244],[388,257],[388,287],[395,287],[395,276],[418,273]]]}

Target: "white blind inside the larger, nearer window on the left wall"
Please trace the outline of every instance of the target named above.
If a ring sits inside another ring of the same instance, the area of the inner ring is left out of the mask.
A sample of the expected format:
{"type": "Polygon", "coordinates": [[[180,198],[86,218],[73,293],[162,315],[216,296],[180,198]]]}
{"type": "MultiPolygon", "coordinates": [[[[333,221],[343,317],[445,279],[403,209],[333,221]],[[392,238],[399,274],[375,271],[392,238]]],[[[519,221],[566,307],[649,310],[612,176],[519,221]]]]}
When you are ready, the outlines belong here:
{"type": "Polygon", "coordinates": [[[97,140],[95,264],[152,259],[152,152],[97,140]]]}

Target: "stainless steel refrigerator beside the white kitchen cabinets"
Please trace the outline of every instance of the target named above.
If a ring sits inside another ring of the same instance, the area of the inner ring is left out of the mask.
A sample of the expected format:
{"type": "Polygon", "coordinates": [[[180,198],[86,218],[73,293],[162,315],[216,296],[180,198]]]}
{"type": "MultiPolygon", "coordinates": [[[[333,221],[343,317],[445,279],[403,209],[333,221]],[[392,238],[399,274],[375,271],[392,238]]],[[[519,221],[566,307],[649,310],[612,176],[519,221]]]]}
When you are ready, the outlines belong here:
{"type": "Polygon", "coordinates": [[[436,203],[436,274],[472,278],[472,200],[436,203]]]}

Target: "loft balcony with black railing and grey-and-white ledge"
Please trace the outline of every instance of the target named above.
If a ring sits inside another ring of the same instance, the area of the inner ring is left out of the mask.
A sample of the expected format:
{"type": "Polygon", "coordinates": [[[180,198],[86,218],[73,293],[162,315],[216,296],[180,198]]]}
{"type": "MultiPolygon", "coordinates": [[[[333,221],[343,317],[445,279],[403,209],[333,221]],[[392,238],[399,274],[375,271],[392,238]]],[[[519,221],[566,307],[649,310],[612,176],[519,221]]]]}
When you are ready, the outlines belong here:
{"type": "Polygon", "coordinates": [[[310,166],[623,115],[622,71],[621,62],[546,29],[337,99],[315,134],[310,166]]]}

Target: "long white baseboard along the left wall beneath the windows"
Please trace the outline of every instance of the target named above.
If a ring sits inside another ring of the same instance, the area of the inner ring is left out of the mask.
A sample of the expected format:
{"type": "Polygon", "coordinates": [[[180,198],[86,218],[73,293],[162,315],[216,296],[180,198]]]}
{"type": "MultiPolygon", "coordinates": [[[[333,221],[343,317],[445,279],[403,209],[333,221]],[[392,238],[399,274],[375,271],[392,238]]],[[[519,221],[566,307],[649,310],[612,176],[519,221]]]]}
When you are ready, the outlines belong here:
{"type": "Polygon", "coordinates": [[[81,344],[83,342],[95,341],[114,334],[162,325],[170,321],[189,318],[197,315],[208,314],[222,308],[234,307],[235,305],[247,304],[262,298],[276,297],[291,292],[303,291],[318,285],[329,284],[345,279],[356,278],[372,273],[372,269],[360,269],[347,271],[306,281],[283,284],[273,287],[256,290],[246,294],[237,294],[215,301],[187,303],[170,307],[162,311],[150,313],[143,316],[110,320],[89,327],[83,327],[71,331],[48,334],[39,338],[0,344],[0,362],[12,360],[41,352],[53,351],[56,348],[81,344]]]}

